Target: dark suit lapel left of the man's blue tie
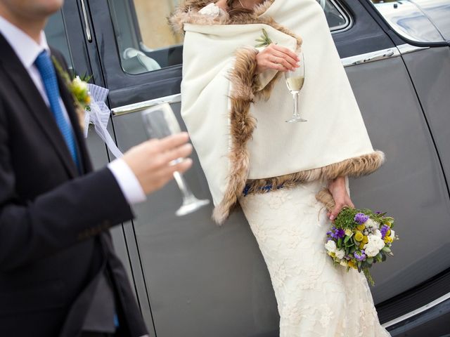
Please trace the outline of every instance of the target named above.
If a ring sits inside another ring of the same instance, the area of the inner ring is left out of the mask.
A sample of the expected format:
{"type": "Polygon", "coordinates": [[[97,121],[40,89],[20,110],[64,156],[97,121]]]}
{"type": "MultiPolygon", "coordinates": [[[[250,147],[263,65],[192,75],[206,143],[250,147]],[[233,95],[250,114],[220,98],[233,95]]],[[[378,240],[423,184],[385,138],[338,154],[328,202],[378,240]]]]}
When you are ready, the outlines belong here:
{"type": "Polygon", "coordinates": [[[0,60],[4,64],[6,74],[13,81],[16,90],[27,105],[28,111],[37,121],[39,128],[45,133],[51,145],[53,145],[58,157],[63,161],[65,169],[71,178],[75,178],[78,176],[77,166],[70,155],[51,110],[47,107],[27,70],[1,34],[0,50],[2,51],[0,60]]]}

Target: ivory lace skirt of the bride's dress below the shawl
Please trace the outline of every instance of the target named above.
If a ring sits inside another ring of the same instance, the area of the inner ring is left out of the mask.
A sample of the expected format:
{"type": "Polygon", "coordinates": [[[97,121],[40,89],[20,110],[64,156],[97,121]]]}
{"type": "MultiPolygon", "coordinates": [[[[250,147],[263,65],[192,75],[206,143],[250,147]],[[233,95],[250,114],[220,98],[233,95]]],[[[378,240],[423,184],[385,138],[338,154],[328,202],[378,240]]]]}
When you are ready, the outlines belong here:
{"type": "Polygon", "coordinates": [[[364,275],[335,267],[323,248],[319,182],[248,194],[239,202],[266,261],[281,337],[386,337],[364,275]]]}

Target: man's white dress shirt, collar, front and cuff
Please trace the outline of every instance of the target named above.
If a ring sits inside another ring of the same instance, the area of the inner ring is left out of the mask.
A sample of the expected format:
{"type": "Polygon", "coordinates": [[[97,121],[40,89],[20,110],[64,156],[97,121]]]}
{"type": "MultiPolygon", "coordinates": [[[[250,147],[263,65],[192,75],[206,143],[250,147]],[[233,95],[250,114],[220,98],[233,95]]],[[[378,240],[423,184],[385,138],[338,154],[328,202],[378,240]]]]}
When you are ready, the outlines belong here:
{"type": "MultiPolygon", "coordinates": [[[[50,106],[41,75],[34,65],[34,61],[41,51],[46,50],[50,52],[44,32],[41,32],[41,41],[37,44],[37,42],[29,35],[0,16],[0,34],[3,34],[6,41],[8,41],[15,51],[15,54],[18,55],[20,62],[22,62],[28,74],[30,74],[39,93],[41,93],[44,102],[47,106],[50,106]]],[[[65,119],[70,124],[68,112],[65,109],[63,100],[60,98],[59,101],[65,119]]],[[[120,189],[129,204],[137,204],[146,200],[146,194],[143,192],[139,180],[123,159],[115,159],[110,162],[110,164],[108,164],[108,169],[113,173],[113,176],[117,180],[117,184],[120,186],[120,189]]]]}

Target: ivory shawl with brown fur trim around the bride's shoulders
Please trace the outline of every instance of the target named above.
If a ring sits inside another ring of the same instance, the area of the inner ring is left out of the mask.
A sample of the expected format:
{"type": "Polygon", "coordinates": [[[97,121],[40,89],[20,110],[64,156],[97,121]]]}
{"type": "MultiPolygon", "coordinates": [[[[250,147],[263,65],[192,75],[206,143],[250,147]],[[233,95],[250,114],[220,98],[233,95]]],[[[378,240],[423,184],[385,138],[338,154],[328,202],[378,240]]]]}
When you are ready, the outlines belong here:
{"type": "Polygon", "coordinates": [[[190,0],[170,19],[184,31],[181,116],[223,223],[245,189],[260,193],[317,179],[361,176],[383,164],[374,151],[316,0],[266,0],[255,13],[229,18],[198,13],[190,0]],[[303,123],[285,123],[293,97],[283,74],[257,75],[255,41],[302,50],[303,123]]]}

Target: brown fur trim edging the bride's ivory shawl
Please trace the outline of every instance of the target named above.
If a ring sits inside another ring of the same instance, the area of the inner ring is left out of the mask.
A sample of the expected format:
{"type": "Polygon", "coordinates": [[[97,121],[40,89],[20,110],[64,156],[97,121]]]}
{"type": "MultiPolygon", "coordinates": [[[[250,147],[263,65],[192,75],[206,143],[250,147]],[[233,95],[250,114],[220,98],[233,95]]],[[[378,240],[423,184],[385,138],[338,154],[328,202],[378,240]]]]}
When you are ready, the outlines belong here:
{"type": "MultiPolygon", "coordinates": [[[[174,15],[169,18],[174,31],[184,32],[185,23],[195,25],[242,25],[262,23],[274,27],[280,32],[290,35],[297,40],[297,48],[300,49],[302,39],[296,36],[289,29],[279,25],[273,18],[260,18],[274,2],[266,0],[263,4],[255,8],[254,13],[245,13],[230,18],[224,13],[217,17],[199,14],[201,8],[207,6],[210,0],[187,0],[184,5],[179,6],[174,15]]],[[[238,198],[242,196],[245,189],[248,193],[264,193],[269,190],[276,190],[279,187],[288,188],[313,180],[329,180],[338,176],[363,176],[378,169],[384,162],[383,152],[376,151],[361,157],[346,159],[335,164],[330,164],[318,169],[290,173],[285,176],[248,180],[250,168],[250,158],[247,150],[248,141],[252,138],[252,133],[256,127],[256,120],[250,115],[250,105],[255,98],[269,99],[274,84],[279,79],[278,73],[269,84],[260,91],[257,91],[258,77],[256,74],[255,48],[240,48],[236,51],[236,62],[229,79],[231,81],[231,150],[229,154],[230,172],[229,183],[226,187],[224,198],[215,207],[212,218],[216,223],[222,224],[228,218],[231,209],[236,206],[238,198]],[[271,186],[271,189],[262,188],[271,186]]]]}

